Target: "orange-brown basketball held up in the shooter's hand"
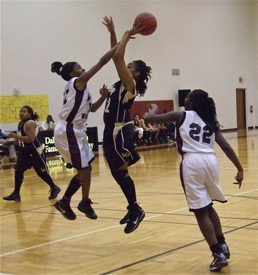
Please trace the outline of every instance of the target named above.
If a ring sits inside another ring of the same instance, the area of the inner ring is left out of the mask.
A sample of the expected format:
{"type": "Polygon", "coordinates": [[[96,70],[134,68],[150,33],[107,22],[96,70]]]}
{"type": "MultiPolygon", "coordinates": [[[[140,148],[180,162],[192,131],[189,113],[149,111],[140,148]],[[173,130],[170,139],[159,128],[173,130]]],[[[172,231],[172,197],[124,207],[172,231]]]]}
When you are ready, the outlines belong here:
{"type": "Polygon", "coordinates": [[[155,32],[155,30],[157,28],[157,20],[154,17],[154,15],[149,12],[142,12],[142,13],[138,14],[134,23],[136,25],[140,23],[140,25],[145,27],[140,32],[140,34],[142,34],[142,35],[153,34],[153,32],[155,32]]]}

